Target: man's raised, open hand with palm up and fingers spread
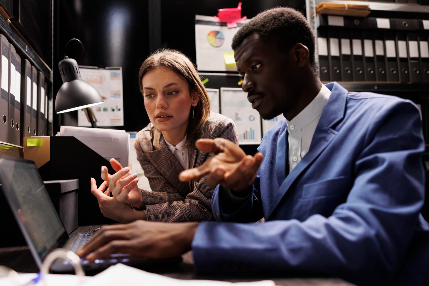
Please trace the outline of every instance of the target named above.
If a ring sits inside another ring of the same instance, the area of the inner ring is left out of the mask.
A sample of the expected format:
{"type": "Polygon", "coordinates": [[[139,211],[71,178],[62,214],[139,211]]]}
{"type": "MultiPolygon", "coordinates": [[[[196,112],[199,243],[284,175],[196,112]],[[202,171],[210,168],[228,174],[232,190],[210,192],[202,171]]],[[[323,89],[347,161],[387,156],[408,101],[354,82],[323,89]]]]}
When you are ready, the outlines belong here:
{"type": "Polygon", "coordinates": [[[224,138],[199,139],[195,145],[199,150],[214,155],[201,166],[181,172],[181,181],[198,180],[207,175],[208,186],[221,184],[236,192],[247,190],[254,182],[263,159],[261,153],[246,155],[239,146],[224,138]]]}

